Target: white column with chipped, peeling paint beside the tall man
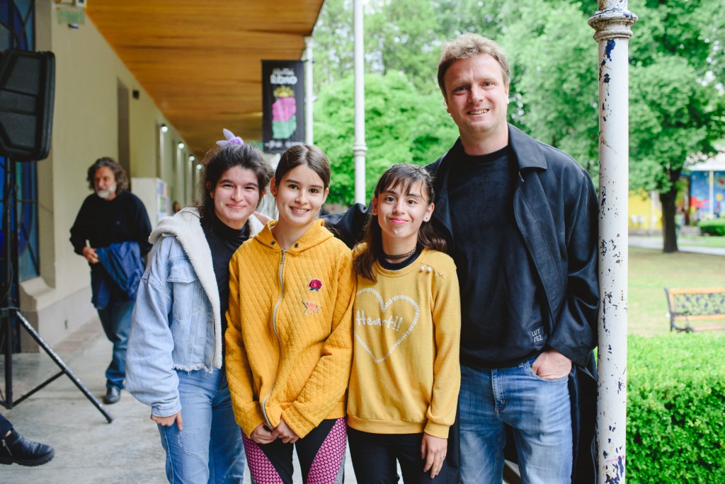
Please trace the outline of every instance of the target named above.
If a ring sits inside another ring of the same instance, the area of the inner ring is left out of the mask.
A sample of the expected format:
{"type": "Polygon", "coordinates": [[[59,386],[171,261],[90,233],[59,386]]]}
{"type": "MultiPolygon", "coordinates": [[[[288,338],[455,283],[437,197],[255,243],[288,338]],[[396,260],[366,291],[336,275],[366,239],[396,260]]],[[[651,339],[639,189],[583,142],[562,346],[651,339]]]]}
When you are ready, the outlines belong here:
{"type": "Polygon", "coordinates": [[[599,43],[599,381],[597,482],[625,482],[627,409],[627,212],[629,38],[637,16],[600,0],[589,19],[599,43]]]}

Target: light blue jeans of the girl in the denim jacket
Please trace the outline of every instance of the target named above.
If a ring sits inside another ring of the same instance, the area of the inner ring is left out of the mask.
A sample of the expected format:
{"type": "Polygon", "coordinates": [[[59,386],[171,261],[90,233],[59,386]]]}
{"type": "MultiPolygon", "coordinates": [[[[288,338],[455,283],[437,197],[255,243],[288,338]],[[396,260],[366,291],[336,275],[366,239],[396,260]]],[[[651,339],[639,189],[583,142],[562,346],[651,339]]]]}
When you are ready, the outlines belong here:
{"type": "Polygon", "coordinates": [[[225,370],[176,371],[183,430],[159,425],[170,483],[244,481],[244,444],[234,421],[225,370]]]}

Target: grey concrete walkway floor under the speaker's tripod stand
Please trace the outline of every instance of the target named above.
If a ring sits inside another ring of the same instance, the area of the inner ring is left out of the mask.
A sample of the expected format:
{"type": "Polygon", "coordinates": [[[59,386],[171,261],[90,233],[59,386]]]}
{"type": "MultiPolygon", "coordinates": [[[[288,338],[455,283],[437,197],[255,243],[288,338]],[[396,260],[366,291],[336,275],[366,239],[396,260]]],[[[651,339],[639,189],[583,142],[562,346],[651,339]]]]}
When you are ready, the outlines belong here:
{"type": "MultiPolygon", "coordinates": [[[[84,325],[54,350],[100,400],[106,392],[104,372],[111,355],[100,322],[84,325]]],[[[4,356],[0,360],[4,393],[4,356]]],[[[58,371],[44,351],[14,354],[14,399],[58,371]]],[[[0,406],[21,435],[55,448],[55,458],[40,467],[0,465],[0,483],[166,483],[165,453],[157,427],[149,420],[149,408],[124,391],[121,400],[106,409],[114,417],[110,424],[65,375],[13,409],[0,406]]],[[[345,482],[355,483],[349,455],[345,464],[345,482]]],[[[295,470],[294,482],[302,483],[297,462],[295,470]]],[[[250,482],[249,470],[244,482],[250,482]]]]}

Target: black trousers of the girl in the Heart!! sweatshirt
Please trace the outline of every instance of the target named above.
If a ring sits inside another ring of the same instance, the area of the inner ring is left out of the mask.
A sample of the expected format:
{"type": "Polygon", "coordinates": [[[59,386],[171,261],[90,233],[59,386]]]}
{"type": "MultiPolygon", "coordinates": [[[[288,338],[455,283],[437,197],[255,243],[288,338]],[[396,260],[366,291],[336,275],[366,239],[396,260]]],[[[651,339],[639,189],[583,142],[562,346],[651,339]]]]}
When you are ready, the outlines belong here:
{"type": "Polygon", "coordinates": [[[348,427],[347,441],[358,483],[397,483],[396,461],[400,464],[405,484],[446,483],[448,480],[447,462],[434,479],[431,479],[430,470],[423,472],[426,466],[426,459],[421,457],[423,433],[367,433],[348,427]]]}

